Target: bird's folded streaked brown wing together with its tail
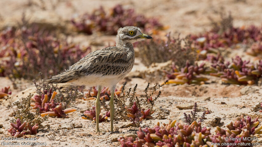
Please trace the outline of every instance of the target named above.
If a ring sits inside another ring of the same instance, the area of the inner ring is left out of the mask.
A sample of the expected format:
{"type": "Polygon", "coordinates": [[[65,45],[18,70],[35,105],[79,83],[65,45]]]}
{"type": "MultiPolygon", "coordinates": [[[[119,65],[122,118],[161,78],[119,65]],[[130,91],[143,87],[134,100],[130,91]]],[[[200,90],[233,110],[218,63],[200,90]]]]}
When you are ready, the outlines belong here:
{"type": "Polygon", "coordinates": [[[80,76],[92,74],[106,75],[107,73],[115,72],[116,70],[114,69],[117,66],[123,66],[123,63],[128,62],[126,61],[126,56],[127,53],[116,46],[96,50],[70,66],[65,72],[43,81],[47,83],[64,83],[77,79],[80,76]],[[110,71],[107,69],[110,69],[110,71]]]}

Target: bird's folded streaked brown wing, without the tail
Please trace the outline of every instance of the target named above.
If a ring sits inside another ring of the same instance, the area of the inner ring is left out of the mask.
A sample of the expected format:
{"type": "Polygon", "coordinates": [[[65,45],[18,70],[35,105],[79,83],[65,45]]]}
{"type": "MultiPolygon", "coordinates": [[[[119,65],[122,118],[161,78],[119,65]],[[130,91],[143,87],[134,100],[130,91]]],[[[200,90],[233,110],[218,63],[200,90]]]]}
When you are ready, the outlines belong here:
{"type": "Polygon", "coordinates": [[[103,74],[105,66],[121,66],[119,62],[128,62],[126,56],[127,52],[116,46],[107,47],[88,54],[72,65],[68,71],[80,75],[103,74]]]}

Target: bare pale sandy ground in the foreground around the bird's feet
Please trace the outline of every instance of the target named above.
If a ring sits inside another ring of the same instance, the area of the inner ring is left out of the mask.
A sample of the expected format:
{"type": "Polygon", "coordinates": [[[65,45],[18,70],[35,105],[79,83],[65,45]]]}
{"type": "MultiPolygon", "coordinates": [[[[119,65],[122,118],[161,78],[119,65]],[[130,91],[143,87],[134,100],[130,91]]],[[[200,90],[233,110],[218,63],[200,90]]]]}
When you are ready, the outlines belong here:
{"type": "MultiPolygon", "coordinates": [[[[0,82],[6,81],[5,78],[0,78],[0,82]]],[[[121,81],[121,83],[124,82],[121,81]]],[[[132,78],[128,82],[127,87],[133,87],[135,83],[138,83],[137,95],[143,94],[146,81],[140,78],[132,78]]],[[[204,110],[211,110],[210,114],[206,115],[203,125],[211,127],[212,133],[214,133],[213,120],[221,118],[221,122],[216,124],[225,128],[228,122],[233,118],[243,115],[250,115],[252,118],[260,117],[261,113],[252,112],[253,105],[261,101],[262,90],[260,86],[239,86],[239,85],[221,85],[212,83],[204,85],[166,85],[162,90],[161,98],[156,101],[154,106],[155,113],[152,114],[153,119],[143,121],[141,127],[153,127],[156,122],[167,122],[168,120],[177,121],[183,118],[183,113],[189,113],[192,109],[178,109],[177,106],[187,107],[197,102],[199,105],[198,117],[204,110]],[[241,94],[243,93],[243,94],[241,94]],[[161,109],[160,109],[161,108],[161,109]],[[167,110],[170,112],[166,114],[163,112],[167,110]],[[164,118],[159,118],[158,115],[163,115],[164,118]]],[[[120,85],[120,84],[119,84],[120,85]]],[[[18,96],[26,96],[28,93],[35,91],[34,87],[26,90],[13,93],[12,101],[19,99],[18,96]],[[24,92],[24,94],[22,94],[24,92]]],[[[3,128],[3,134],[0,137],[9,137],[6,129],[9,128],[9,120],[12,117],[8,114],[13,112],[12,107],[7,109],[8,101],[2,100],[0,108],[2,113],[0,115],[0,122],[3,128]]],[[[71,108],[76,109],[75,112],[69,113],[69,118],[53,118],[50,117],[48,121],[45,121],[43,125],[50,125],[49,129],[40,129],[39,133],[35,135],[36,141],[22,141],[22,142],[46,142],[47,146],[119,146],[117,141],[121,136],[135,136],[137,128],[123,126],[128,125],[130,122],[115,121],[114,130],[118,130],[116,133],[110,134],[110,122],[105,121],[100,123],[101,133],[95,133],[95,123],[91,123],[90,120],[81,119],[80,111],[86,110],[94,105],[94,101],[87,102],[81,99],[76,101],[76,104],[71,108]],[[59,125],[61,128],[59,129],[59,125]],[[79,125],[81,128],[74,128],[73,126],[79,125]],[[58,131],[57,131],[58,129],[58,131]],[[47,138],[47,134],[54,133],[54,140],[47,138]]],[[[215,126],[216,126],[215,125],[215,126]]],[[[19,141],[18,141],[19,142],[19,141]]]]}

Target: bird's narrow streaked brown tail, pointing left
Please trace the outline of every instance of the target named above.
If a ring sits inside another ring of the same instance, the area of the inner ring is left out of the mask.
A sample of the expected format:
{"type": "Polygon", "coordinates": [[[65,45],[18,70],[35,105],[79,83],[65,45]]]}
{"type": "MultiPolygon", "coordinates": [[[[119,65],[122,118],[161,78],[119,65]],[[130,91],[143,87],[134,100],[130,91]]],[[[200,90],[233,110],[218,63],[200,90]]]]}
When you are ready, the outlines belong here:
{"type": "Polygon", "coordinates": [[[43,83],[66,83],[77,77],[77,73],[74,71],[66,71],[53,76],[51,79],[42,80],[43,83]]]}

